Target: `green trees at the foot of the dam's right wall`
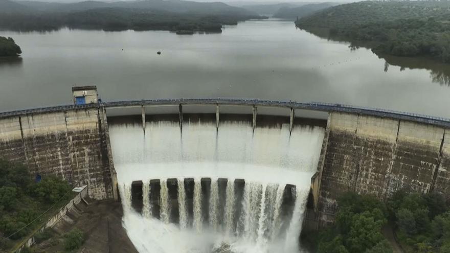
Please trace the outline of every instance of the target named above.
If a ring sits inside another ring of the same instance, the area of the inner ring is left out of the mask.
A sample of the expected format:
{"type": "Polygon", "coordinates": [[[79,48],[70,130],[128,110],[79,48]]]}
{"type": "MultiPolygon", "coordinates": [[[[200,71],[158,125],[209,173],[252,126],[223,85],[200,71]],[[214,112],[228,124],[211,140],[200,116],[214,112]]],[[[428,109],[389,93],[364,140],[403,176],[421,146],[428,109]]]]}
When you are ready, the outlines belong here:
{"type": "Polygon", "coordinates": [[[439,194],[400,191],[383,203],[347,193],[338,203],[333,226],[304,235],[303,240],[318,253],[393,252],[383,233],[387,224],[393,224],[397,241],[407,253],[450,252],[450,207],[439,194]]]}

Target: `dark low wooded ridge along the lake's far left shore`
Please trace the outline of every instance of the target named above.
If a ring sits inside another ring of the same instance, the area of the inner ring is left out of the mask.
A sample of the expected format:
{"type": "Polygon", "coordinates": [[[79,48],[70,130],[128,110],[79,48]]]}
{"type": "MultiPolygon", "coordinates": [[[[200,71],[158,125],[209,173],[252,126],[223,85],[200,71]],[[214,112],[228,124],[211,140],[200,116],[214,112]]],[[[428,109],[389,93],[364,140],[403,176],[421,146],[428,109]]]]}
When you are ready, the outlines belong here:
{"type": "Polygon", "coordinates": [[[0,16],[0,27],[13,31],[52,31],[99,29],[104,31],[203,31],[221,32],[222,25],[237,25],[238,21],[255,16],[199,15],[167,13],[153,10],[95,9],[72,13],[12,14],[0,16]]]}

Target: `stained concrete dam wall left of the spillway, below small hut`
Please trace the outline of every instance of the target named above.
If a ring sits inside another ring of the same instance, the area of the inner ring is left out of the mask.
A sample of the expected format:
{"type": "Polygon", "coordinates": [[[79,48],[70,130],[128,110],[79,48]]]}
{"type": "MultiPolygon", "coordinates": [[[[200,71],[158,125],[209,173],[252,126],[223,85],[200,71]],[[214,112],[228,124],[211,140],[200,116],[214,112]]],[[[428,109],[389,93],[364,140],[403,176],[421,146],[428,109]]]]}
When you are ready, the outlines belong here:
{"type": "Polygon", "coordinates": [[[102,117],[102,109],[89,108],[0,119],[0,157],[25,164],[33,176],[87,185],[92,198],[113,198],[102,117]]]}

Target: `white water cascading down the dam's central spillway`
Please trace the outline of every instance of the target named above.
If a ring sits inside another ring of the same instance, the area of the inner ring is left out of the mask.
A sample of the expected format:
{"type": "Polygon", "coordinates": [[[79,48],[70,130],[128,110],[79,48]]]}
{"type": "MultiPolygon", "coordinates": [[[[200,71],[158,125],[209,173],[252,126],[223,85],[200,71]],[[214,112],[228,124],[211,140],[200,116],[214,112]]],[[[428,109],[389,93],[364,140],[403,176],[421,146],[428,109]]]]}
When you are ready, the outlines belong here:
{"type": "Polygon", "coordinates": [[[299,252],[324,129],[110,124],[124,227],[140,252],[299,252]],[[142,211],[131,184],[142,181],[142,211]]]}

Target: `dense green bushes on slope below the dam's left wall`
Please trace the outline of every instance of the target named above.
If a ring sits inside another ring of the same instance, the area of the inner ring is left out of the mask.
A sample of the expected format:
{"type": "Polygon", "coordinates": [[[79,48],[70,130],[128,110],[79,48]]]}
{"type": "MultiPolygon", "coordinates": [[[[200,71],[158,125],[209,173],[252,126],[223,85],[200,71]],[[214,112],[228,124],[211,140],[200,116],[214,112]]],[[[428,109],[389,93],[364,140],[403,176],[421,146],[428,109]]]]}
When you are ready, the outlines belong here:
{"type": "Polygon", "coordinates": [[[57,177],[39,182],[31,178],[25,166],[0,159],[0,252],[41,227],[75,195],[69,183],[57,177]]]}

